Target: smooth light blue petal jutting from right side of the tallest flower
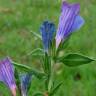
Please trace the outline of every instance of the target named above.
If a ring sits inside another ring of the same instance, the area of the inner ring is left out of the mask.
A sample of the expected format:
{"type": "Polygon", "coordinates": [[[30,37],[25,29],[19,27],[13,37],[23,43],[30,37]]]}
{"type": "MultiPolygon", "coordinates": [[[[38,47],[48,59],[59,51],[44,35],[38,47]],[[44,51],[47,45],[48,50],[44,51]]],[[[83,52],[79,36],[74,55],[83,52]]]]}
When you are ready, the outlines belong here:
{"type": "Polygon", "coordinates": [[[85,22],[84,19],[78,15],[75,19],[75,22],[72,26],[71,31],[74,32],[74,31],[80,29],[84,25],[84,22],[85,22]]]}

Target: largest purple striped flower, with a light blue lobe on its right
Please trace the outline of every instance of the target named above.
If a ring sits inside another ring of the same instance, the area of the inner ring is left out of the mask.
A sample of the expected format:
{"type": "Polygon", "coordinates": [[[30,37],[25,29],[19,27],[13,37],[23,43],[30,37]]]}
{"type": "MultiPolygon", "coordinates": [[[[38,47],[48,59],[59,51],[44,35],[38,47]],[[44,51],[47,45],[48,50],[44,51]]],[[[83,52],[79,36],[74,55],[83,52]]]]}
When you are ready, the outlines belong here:
{"type": "Polygon", "coordinates": [[[61,15],[59,18],[58,29],[56,33],[56,48],[64,41],[73,31],[80,29],[84,24],[83,18],[79,15],[80,5],[62,3],[61,15]]]}

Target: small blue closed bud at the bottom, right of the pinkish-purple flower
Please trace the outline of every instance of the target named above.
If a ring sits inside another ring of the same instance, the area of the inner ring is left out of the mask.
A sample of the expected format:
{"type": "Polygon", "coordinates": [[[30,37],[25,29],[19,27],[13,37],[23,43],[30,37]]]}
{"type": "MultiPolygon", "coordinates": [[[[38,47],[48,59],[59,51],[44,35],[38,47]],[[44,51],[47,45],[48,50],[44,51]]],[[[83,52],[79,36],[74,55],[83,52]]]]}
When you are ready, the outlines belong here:
{"type": "Polygon", "coordinates": [[[26,74],[20,75],[20,81],[21,81],[20,85],[21,85],[22,96],[27,96],[28,88],[31,84],[31,80],[32,80],[31,73],[26,73],[26,74]]]}

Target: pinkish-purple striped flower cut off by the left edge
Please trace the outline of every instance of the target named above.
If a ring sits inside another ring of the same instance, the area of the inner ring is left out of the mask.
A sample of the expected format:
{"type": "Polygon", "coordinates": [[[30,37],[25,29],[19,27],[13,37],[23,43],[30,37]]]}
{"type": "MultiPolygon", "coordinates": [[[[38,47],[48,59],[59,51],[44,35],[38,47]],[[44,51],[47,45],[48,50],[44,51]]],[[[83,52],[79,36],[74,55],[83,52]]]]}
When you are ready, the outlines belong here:
{"type": "Polygon", "coordinates": [[[8,57],[0,61],[0,81],[10,88],[12,96],[16,96],[14,68],[8,57]]]}

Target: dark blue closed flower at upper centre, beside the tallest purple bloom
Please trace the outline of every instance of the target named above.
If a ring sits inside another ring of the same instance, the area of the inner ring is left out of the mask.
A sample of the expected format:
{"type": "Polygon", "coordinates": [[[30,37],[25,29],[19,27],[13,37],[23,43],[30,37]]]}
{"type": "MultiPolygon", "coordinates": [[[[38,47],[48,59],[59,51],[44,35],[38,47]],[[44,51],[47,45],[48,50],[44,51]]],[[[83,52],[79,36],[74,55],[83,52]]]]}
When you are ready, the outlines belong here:
{"type": "Polygon", "coordinates": [[[48,49],[50,48],[50,44],[53,39],[55,30],[56,28],[55,28],[54,23],[49,22],[49,21],[44,21],[40,27],[44,50],[47,53],[48,53],[48,49]]]}

